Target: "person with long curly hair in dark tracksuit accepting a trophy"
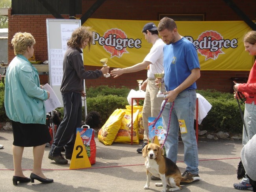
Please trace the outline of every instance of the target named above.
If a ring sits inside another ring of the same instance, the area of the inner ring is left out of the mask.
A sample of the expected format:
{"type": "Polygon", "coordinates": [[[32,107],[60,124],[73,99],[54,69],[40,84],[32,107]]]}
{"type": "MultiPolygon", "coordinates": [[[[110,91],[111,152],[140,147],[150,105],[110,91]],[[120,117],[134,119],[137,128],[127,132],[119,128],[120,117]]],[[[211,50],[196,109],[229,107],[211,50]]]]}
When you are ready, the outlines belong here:
{"type": "Polygon", "coordinates": [[[63,79],[61,82],[61,94],[64,104],[64,117],[58,127],[54,142],[48,158],[56,164],[67,164],[72,158],[74,143],[76,140],[76,127],[82,123],[82,97],[83,79],[96,79],[107,74],[109,66],[100,70],[85,70],[82,60],[82,50],[86,46],[90,50],[93,39],[91,27],[80,27],[73,31],[71,38],[67,41],[67,51],[63,60],[63,79]],[[65,157],[61,150],[65,148],[65,157]]]}

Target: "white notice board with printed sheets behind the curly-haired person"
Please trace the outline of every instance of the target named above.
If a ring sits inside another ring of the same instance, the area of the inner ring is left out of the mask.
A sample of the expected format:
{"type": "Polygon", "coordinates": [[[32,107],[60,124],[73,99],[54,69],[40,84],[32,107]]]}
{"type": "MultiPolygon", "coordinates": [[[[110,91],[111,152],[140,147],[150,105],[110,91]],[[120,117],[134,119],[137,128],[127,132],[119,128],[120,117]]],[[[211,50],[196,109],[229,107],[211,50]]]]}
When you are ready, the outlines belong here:
{"type": "Polygon", "coordinates": [[[61,102],[61,107],[63,107],[60,92],[63,57],[67,50],[67,40],[71,37],[72,32],[80,26],[81,20],[78,19],[46,19],[49,84],[61,102]]]}

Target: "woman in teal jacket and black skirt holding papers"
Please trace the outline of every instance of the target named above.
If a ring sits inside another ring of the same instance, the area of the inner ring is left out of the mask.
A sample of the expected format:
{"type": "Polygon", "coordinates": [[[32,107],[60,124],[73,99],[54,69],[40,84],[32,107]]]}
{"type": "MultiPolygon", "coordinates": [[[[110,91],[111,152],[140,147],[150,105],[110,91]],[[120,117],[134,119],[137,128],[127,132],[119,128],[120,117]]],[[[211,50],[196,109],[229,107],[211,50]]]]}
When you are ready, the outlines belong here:
{"type": "Polygon", "coordinates": [[[35,39],[30,33],[16,33],[11,40],[16,57],[7,68],[4,106],[13,128],[13,185],[38,180],[52,183],[42,173],[45,144],[51,140],[46,126],[44,100],[49,92],[41,89],[36,68],[28,61],[33,56],[35,39]],[[25,177],[21,160],[24,147],[33,147],[33,170],[25,177]]]}

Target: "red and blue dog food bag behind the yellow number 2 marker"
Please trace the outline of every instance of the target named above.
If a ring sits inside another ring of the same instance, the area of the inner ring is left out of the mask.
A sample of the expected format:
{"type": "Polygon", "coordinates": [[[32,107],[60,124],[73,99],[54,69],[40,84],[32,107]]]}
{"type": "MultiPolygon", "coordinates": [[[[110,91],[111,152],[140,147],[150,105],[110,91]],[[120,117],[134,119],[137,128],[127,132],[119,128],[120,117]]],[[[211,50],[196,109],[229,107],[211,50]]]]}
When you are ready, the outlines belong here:
{"type": "Polygon", "coordinates": [[[87,152],[89,161],[91,164],[96,162],[96,143],[94,140],[94,129],[84,128],[89,127],[87,125],[82,126],[81,128],[76,128],[76,131],[79,131],[80,137],[82,138],[83,145],[87,152]]]}

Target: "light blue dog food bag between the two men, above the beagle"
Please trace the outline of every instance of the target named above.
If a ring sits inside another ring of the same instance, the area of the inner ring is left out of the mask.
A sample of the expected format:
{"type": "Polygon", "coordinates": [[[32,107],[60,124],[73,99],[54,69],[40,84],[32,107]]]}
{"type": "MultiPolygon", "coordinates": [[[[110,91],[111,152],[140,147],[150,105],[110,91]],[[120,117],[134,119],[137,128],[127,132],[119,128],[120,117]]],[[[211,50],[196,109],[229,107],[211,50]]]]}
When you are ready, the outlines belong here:
{"type": "Polygon", "coordinates": [[[158,142],[161,145],[165,139],[166,131],[163,129],[163,119],[161,117],[153,127],[155,121],[156,117],[148,117],[148,139],[149,142],[154,143],[155,136],[157,136],[158,142]]]}

